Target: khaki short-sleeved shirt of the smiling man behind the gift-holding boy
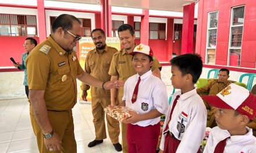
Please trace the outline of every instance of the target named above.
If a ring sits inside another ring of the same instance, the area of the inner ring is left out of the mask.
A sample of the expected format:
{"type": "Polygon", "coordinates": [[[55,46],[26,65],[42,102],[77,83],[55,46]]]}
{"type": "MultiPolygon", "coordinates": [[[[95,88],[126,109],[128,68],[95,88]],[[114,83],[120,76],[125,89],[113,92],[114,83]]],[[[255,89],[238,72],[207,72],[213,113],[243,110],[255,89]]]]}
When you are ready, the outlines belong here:
{"type": "MultiPolygon", "coordinates": [[[[109,75],[118,76],[118,80],[126,81],[129,77],[136,74],[136,71],[133,69],[132,63],[133,56],[128,54],[125,49],[121,49],[120,52],[117,52],[113,55],[111,65],[109,68],[109,75]]],[[[161,68],[159,61],[153,57],[153,65],[151,70],[154,71],[156,68],[161,68]]],[[[122,99],[123,97],[123,88],[118,89],[118,98],[122,99]]]]}

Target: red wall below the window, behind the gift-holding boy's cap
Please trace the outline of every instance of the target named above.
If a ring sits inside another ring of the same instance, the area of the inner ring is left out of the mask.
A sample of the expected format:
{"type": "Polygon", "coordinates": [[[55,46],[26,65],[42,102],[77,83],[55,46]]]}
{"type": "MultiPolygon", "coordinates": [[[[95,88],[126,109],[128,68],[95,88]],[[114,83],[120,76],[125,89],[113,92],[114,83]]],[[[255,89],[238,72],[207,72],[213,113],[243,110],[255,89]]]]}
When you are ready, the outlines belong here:
{"type": "MultiPolygon", "coordinates": [[[[135,39],[135,43],[140,44],[140,39],[135,39]]],[[[148,46],[153,50],[154,56],[157,57],[158,61],[169,61],[166,57],[166,46],[167,41],[165,39],[149,39],[148,46]]]]}

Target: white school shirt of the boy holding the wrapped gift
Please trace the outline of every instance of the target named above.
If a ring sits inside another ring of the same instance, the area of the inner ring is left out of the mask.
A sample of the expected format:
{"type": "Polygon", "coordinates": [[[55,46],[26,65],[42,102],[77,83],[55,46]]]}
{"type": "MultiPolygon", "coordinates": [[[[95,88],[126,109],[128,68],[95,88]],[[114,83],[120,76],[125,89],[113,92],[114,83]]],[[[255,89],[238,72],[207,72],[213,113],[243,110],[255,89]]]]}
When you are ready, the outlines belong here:
{"type": "MultiPolygon", "coordinates": [[[[168,95],[165,83],[163,83],[158,77],[152,75],[151,70],[141,75],[137,99],[134,103],[131,103],[131,98],[133,96],[134,88],[138,82],[138,77],[140,77],[140,75],[133,75],[125,82],[122,100],[125,100],[126,107],[131,108],[139,114],[145,114],[153,109],[157,109],[162,114],[166,114],[168,110],[168,95]]],[[[160,122],[160,117],[140,121],[133,125],[145,127],[148,125],[155,125],[158,122],[160,122]]]]}

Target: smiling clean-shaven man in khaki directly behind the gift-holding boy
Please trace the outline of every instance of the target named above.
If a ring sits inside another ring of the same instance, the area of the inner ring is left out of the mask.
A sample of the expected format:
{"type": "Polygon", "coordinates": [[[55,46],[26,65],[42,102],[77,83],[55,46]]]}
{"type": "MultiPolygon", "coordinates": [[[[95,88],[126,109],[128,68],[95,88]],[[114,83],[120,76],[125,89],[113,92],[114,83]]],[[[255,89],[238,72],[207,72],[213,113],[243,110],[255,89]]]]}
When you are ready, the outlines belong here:
{"type": "MultiPolygon", "coordinates": [[[[123,49],[120,52],[117,52],[113,55],[111,61],[111,66],[109,68],[108,74],[111,75],[111,81],[126,81],[129,77],[136,74],[132,66],[132,57],[129,53],[133,52],[135,48],[135,34],[133,27],[130,24],[123,24],[118,28],[118,35],[120,43],[123,46],[123,49]]],[[[158,60],[153,57],[153,65],[151,70],[154,72],[154,75],[160,77],[161,65],[158,60]]],[[[119,105],[122,103],[123,97],[123,88],[111,89],[111,105],[119,105]]],[[[122,123],[122,147],[123,152],[128,152],[127,141],[126,141],[126,124],[122,123]]]]}

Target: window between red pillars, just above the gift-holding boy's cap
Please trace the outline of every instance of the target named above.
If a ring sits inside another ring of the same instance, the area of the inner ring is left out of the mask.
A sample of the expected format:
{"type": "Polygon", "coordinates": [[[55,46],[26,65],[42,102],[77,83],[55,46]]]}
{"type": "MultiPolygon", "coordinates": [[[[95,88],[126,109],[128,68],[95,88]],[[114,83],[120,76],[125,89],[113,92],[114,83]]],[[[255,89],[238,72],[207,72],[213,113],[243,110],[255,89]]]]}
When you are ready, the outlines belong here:
{"type": "Polygon", "coordinates": [[[150,23],[150,39],[165,39],[165,23],[150,23]]]}

